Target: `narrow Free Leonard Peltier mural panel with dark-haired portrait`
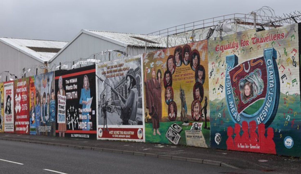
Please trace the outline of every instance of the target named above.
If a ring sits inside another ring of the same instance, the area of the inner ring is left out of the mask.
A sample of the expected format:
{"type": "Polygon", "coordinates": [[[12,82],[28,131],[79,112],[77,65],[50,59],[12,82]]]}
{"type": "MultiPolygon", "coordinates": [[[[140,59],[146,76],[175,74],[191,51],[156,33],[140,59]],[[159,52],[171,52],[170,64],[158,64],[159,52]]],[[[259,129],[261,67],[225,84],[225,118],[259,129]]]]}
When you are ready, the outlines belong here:
{"type": "Polygon", "coordinates": [[[14,81],[4,82],[4,131],[14,133],[14,81]]]}

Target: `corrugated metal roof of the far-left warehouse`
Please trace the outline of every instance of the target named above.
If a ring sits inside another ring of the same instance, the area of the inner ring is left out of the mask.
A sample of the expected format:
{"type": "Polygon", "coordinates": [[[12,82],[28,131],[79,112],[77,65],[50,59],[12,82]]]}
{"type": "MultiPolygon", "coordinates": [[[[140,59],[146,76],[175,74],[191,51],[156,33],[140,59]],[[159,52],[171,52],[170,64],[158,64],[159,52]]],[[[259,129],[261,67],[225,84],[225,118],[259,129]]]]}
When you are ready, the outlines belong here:
{"type": "Polygon", "coordinates": [[[0,42],[3,42],[18,51],[27,54],[28,56],[40,61],[45,62],[49,61],[56,52],[38,52],[34,51],[36,49],[31,48],[46,48],[40,50],[47,50],[47,48],[63,48],[68,42],[61,42],[61,41],[51,41],[51,40],[36,40],[36,39],[17,39],[17,38],[7,38],[7,37],[0,37],[0,42]]]}

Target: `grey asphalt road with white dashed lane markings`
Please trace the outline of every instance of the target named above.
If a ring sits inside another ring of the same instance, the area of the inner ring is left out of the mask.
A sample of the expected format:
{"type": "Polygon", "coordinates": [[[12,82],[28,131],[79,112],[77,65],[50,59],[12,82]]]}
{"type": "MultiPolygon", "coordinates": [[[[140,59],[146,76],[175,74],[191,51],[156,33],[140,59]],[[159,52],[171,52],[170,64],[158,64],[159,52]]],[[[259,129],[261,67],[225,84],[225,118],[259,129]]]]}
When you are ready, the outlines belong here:
{"type": "Polygon", "coordinates": [[[0,173],[226,173],[235,169],[0,140],[0,173]],[[10,161],[10,162],[9,162],[10,161]],[[13,163],[15,162],[15,163],[13,163]],[[20,164],[18,164],[20,163],[20,164]],[[22,165],[23,164],[23,165],[22,165]],[[47,169],[47,170],[45,170],[47,169]],[[51,170],[51,171],[49,171],[51,170]]]}

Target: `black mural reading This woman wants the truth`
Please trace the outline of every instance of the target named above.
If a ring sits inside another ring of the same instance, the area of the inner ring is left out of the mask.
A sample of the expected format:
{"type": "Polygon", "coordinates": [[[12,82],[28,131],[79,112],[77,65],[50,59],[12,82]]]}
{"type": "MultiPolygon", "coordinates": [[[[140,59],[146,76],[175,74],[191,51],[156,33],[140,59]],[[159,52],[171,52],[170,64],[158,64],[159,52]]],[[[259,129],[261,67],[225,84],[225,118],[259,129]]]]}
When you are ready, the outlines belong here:
{"type": "Polygon", "coordinates": [[[55,72],[56,135],[96,139],[95,65],[55,72]]]}

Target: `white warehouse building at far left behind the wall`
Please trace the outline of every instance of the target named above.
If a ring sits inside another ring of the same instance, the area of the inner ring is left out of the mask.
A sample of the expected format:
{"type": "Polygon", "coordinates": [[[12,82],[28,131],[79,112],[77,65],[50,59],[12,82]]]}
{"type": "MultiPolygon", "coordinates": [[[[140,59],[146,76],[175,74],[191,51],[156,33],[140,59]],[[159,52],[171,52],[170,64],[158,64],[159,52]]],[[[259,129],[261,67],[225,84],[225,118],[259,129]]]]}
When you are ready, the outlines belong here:
{"type": "Polygon", "coordinates": [[[0,82],[43,73],[45,65],[67,42],[0,37],[0,82]]]}

